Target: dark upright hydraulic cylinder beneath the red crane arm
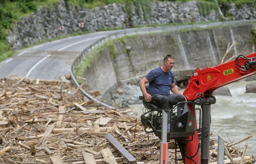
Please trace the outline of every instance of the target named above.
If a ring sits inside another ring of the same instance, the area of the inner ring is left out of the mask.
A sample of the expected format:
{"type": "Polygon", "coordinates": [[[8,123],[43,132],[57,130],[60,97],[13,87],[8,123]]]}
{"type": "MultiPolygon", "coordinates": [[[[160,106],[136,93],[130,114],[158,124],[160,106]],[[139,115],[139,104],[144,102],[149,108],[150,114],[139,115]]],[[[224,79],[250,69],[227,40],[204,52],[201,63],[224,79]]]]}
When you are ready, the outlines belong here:
{"type": "Polygon", "coordinates": [[[202,136],[201,136],[201,164],[208,164],[210,151],[211,105],[201,105],[202,108],[202,136]]]}

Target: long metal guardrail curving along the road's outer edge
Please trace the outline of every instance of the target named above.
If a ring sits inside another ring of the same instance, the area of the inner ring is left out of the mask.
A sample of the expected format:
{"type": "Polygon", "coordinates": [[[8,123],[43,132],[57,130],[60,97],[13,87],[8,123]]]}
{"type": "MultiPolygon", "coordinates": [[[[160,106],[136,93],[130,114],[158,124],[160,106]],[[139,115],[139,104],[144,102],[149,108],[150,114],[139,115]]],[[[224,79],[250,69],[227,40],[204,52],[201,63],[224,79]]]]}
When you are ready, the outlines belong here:
{"type": "MultiPolygon", "coordinates": [[[[207,27],[214,27],[214,26],[228,26],[228,25],[237,25],[237,24],[244,24],[244,23],[254,23],[256,22],[256,19],[252,20],[232,20],[232,21],[223,21],[223,22],[211,22],[211,23],[202,23],[202,24],[190,24],[190,25],[178,25],[178,26],[156,26],[156,27],[140,27],[140,28],[131,28],[131,29],[124,29],[123,31],[113,32],[112,34],[108,34],[106,36],[103,36],[102,38],[98,39],[94,43],[92,43],[90,46],[86,47],[83,52],[76,57],[76,59],[73,61],[71,65],[71,69],[69,70],[69,73],[71,75],[71,80],[76,84],[77,87],[80,87],[78,84],[76,78],[74,77],[74,69],[78,66],[78,64],[85,58],[90,51],[92,51],[95,47],[102,45],[107,40],[117,39],[121,38],[123,36],[129,36],[134,34],[149,34],[152,32],[164,32],[164,31],[178,31],[181,29],[189,29],[189,28],[207,28],[207,27]]],[[[108,104],[101,102],[94,97],[90,96],[88,93],[86,93],[82,88],[80,88],[80,91],[83,92],[83,94],[88,97],[89,99],[92,99],[95,102],[98,102],[99,104],[102,104],[103,106],[106,106],[107,108],[114,108],[112,106],[109,106],[108,104]]]]}

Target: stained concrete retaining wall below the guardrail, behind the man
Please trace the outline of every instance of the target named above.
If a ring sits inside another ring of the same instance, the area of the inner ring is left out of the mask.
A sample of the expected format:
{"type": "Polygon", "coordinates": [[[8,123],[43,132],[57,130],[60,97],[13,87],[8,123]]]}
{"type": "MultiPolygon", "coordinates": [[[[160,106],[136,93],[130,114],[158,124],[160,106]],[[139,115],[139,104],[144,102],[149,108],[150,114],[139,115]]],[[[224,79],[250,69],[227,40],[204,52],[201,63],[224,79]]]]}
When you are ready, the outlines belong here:
{"type": "MultiPolygon", "coordinates": [[[[168,32],[114,41],[117,51],[111,59],[105,48],[95,54],[92,65],[85,70],[86,84],[103,95],[119,83],[136,82],[150,70],[163,63],[163,56],[175,55],[176,80],[190,79],[199,67],[219,65],[228,44],[236,43],[228,53],[231,56],[255,51],[251,35],[254,24],[214,28],[201,31],[168,32]],[[131,46],[131,51],[126,51],[131,46]]],[[[105,97],[106,98],[106,97],[105,97]]]]}

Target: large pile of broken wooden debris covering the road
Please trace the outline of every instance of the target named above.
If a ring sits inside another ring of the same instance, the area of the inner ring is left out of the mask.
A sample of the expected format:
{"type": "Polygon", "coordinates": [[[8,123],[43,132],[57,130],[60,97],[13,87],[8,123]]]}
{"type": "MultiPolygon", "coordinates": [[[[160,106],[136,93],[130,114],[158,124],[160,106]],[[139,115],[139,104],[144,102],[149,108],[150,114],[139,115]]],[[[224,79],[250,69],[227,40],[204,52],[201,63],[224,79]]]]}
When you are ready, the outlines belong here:
{"type": "Polygon", "coordinates": [[[69,83],[18,80],[0,80],[0,164],[159,163],[159,138],[130,108],[84,101],[69,83]]]}

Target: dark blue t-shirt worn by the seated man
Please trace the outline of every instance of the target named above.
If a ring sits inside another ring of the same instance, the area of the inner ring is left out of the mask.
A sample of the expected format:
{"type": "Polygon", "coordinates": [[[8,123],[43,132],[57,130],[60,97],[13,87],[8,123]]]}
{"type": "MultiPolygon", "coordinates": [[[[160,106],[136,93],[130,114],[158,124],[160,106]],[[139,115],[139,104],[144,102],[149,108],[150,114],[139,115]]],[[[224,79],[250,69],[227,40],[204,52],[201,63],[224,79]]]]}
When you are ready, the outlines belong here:
{"type": "Polygon", "coordinates": [[[149,81],[150,95],[160,94],[169,95],[171,84],[174,83],[174,74],[172,71],[164,72],[161,67],[151,70],[146,76],[149,81]]]}

